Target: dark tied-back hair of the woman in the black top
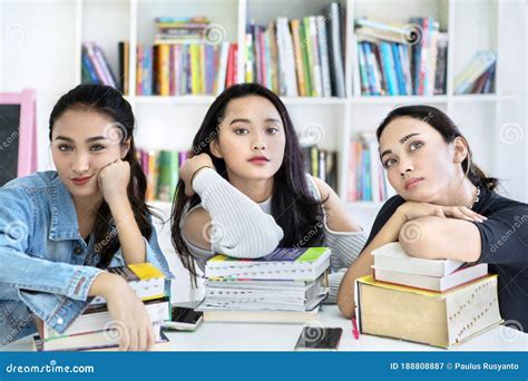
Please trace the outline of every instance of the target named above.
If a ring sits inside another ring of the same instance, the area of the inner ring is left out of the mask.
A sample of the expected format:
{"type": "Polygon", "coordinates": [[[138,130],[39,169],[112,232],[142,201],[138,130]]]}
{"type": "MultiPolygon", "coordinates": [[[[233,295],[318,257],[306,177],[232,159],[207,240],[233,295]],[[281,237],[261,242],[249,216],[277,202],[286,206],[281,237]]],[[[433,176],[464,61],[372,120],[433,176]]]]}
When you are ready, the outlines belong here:
{"type": "Polygon", "coordinates": [[[460,133],[457,125],[444,113],[432,106],[417,105],[398,107],[390,111],[378,127],[375,136],[380,141],[381,134],[385,127],[394,119],[401,117],[411,117],[426,121],[432,128],[440,133],[446,143],[453,141],[457,137],[461,137],[468,145],[468,157],[461,163],[466,177],[477,187],[485,187],[495,190],[499,185],[499,180],[495,177],[488,177],[472,160],[471,148],[466,137],[460,133]]]}

